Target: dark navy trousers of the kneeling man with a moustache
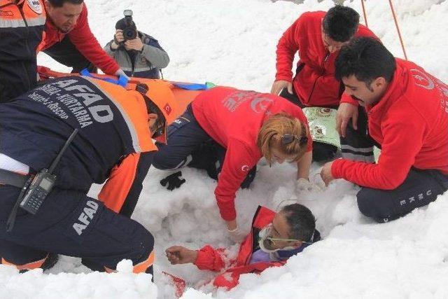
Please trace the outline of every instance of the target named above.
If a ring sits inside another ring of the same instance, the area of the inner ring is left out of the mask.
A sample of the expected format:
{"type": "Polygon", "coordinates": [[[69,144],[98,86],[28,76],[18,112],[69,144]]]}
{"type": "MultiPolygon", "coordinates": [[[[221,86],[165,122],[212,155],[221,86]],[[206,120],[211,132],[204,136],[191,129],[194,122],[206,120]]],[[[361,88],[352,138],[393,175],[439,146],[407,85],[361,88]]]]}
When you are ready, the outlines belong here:
{"type": "Polygon", "coordinates": [[[432,169],[411,169],[398,188],[394,190],[361,188],[356,197],[361,213],[384,223],[408,214],[416,207],[425,206],[446,190],[448,190],[448,175],[432,169]]]}

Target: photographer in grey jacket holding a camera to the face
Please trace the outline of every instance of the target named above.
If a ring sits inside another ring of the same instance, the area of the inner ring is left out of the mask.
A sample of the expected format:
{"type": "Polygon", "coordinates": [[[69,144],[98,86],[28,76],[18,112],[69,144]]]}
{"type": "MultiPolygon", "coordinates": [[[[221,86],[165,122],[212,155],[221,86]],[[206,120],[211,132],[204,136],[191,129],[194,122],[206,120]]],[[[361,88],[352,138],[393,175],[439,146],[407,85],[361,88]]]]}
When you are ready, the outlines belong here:
{"type": "Polygon", "coordinates": [[[132,11],[125,11],[125,18],[116,23],[113,41],[104,47],[127,76],[160,78],[160,69],[167,67],[168,54],[152,36],[137,31],[132,21],[132,11]]]}

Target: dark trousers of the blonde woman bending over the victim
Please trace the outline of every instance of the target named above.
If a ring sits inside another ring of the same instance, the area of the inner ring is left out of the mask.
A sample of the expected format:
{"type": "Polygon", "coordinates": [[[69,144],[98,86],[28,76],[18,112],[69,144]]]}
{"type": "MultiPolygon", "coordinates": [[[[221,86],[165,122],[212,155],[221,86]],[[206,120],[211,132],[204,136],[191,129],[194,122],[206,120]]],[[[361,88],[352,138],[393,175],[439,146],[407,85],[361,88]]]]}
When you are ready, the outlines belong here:
{"type": "MultiPolygon", "coordinates": [[[[167,130],[167,145],[158,144],[153,165],[158,169],[195,167],[205,169],[212,179],[218,179],[225,158],[225,148],[211,139],[197,123],[188,106],[182,116],[174,120],[167,130]]],[[[248,172],[241,188],[248,188],[255,178],[256,167],[248,172]]]]}

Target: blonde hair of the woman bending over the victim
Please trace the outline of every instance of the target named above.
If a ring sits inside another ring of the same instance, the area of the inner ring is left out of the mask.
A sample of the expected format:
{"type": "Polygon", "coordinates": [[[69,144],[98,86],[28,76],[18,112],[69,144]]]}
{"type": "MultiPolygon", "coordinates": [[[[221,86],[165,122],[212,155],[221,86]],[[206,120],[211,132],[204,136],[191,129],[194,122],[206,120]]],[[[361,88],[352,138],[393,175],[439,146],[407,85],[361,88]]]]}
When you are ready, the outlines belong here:
{"type": "Polygon", "coordinates": [[[306,136],[306,127],[300,120],[286,113],[277,113],[262,124],[258,132],[257,146],[269,163],[272,162],[274,148],[284,155],[294,156],[294,161],[297,161],[307,150],[307,144],[300,145],[300,139],[306,136]],[[281,137],[284,134],[291,134],[299,139],[295,138],[290,144],[283,144],[281,137]]]}

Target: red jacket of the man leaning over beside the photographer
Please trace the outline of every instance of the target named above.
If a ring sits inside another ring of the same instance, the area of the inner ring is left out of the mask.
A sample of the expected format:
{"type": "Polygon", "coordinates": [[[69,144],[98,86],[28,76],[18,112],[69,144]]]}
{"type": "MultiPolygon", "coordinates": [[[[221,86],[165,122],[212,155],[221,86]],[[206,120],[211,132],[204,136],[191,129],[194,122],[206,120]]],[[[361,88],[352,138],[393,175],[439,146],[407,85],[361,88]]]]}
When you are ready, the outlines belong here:
{"type": "MultiPolygon", "coordinates": [[[[117,62],[104,52],[102,46],[99,45],[97,39],[95,39],[92,34],[92,31],[90,31],[89,23],[87,22],[87,7],[85,4],[75,27],[68,33],[68,35],[70,41],[76,46],[79,52],[96,67],[102,69],[105,74],[113,75],[120,69],[117,62]]],[[[38,46],[38,51],[48,49],[55,43],[59,43],[65,36],[66,34],[60,32],[51,22],[50,18],[47,18],[45,32],[43,32],[43,39],[38,46]]]]}

